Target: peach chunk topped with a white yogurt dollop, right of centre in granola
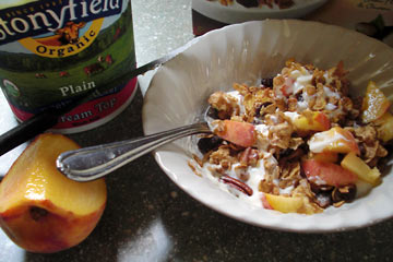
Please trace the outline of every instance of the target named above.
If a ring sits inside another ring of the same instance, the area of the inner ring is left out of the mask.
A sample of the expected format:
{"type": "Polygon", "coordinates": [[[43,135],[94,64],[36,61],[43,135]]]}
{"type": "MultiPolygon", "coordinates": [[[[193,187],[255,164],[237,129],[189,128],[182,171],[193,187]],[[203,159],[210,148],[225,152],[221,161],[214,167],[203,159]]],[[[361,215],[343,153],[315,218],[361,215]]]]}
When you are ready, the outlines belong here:
{"type": "Polygon", "coordinates": [[[315,133],[309,140],[310,151],[313,153],[335,152],[360,154],[359,146],[350,131],[340,127],[315,133]]]}

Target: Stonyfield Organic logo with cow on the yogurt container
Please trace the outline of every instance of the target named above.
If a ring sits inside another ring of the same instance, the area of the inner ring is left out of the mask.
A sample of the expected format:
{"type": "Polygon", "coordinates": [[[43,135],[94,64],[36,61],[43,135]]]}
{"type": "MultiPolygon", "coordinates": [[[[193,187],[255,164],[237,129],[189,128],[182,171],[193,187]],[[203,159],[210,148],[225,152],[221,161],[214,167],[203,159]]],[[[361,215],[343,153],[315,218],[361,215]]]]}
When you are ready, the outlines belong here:
{"type": "Polygon", "coordinates": [[[92,44],[104,17],[121,10],[121,0],[50,0],[4,9],[0,11],[0,45],[20,40],[39,56],[71,56],[92,44]],[[80,35],[82,28],[84,35],[80,35]]]}

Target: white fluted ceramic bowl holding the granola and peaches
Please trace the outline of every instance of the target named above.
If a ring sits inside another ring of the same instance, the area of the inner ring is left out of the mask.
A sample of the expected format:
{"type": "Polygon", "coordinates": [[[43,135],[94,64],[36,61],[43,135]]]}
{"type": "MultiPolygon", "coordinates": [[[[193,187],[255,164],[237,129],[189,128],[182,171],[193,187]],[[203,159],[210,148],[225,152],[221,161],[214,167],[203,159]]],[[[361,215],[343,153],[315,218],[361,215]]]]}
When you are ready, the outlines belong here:
{"type": "MultiPolygon", "coordinates": [[[[154,75],[143,107],[146,134],[195,121],[211,93],[228,91],[234,82],[255,82],[275,75],[288,58],[329,69],[344,61],[353,94],[361,95],[373,80],[393,97],[393,49],[337,26],[303,21],[264,21],[230,25],[200,37],[154,75]]],[[[365,198],[322,214],[282,214],[251,206],[222,191],[188,166],[195,151],[182,139],[155,152],[168,177],[195,200],[252,225],[290,231],[345,230],[393,215],[393,174],[365,198]]]]}

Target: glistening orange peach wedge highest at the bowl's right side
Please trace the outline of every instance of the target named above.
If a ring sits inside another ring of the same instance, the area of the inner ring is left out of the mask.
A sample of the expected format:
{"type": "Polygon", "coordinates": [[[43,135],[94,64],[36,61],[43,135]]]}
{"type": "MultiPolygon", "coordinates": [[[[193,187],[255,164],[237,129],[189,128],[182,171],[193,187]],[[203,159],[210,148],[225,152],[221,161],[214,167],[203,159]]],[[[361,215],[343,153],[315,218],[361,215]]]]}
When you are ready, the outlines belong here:
{"type": "Polygon", "coordinates": [[[362,104],[361,120],[365,123],[376,121],[385,114],[391,103],[373,81],[367,85],[362,104]]]}

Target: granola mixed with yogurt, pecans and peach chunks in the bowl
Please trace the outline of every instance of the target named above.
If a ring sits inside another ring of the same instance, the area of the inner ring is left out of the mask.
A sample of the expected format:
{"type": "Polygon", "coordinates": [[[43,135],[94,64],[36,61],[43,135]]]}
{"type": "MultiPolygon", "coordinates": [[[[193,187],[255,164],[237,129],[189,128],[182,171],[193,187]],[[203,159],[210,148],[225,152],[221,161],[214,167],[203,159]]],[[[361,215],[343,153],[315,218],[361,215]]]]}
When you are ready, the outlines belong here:
{"type": "Polygon", "coordinates": [[[216,135],[200,139],[190,167],[264,209],[314,214],[354,201],[381,182],[393,116],[383,107],[365,121],[379,105],[349,97],[345,75],[342,62],[321,70],[290,59],[273,79],[213,93],[216,135]]]}

